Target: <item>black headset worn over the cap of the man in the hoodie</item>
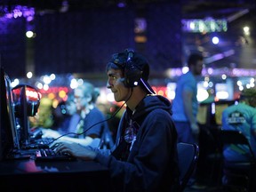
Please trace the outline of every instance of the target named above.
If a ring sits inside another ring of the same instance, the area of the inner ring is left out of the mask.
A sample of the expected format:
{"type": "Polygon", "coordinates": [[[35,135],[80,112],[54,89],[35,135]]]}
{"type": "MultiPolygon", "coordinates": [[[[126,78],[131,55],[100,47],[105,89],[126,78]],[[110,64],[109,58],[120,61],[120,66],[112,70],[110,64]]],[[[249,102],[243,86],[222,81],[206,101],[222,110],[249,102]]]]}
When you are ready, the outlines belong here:
{"type": "Polygon", "coordinates": [[[136,65],[134,65],[132,59],[134,51],[132,49],[126,49],[127,60],[124,63],[124,85],[126,87],[135,87],[139,85],[142,71],[136,65]]]}

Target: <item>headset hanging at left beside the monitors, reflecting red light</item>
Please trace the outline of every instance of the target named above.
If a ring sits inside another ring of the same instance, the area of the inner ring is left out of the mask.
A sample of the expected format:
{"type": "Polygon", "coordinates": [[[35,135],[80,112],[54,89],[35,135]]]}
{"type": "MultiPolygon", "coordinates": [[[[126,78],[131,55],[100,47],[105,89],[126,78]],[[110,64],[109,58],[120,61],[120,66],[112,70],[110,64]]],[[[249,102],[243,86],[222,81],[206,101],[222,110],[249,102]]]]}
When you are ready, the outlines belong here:
{"type": "Polygon", "coordinates": [[[24,108],[27,108],[27,116],[36,116],[36,112],[40,105],[40,94],[38,90],[29,85],[29,84],[18,84],[17,86],[12,88],[13,90],[20,89],[20,98],[17,102],[14,103],[14,112],[18,117],[24,116],[24,108]],[[27,100],[26,89],[30,88],[36,91],[37,98],[36,100],[27,100]],[[21,89],[20,89],[21,88],[21,89]]]}

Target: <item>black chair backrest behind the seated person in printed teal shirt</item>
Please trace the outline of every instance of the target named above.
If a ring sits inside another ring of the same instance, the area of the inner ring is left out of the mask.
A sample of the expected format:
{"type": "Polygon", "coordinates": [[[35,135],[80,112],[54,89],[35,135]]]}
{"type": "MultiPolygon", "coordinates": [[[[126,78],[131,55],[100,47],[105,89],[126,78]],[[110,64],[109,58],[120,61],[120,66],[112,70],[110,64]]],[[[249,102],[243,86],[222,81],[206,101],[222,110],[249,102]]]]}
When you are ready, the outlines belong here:
{"type": "Polygon", "coordinates": [[[244,136],[243,132],[233,131],[233,130],[221,130],[220,131],[220,140],[222,142],[222,145],[225,144],[241,144],[248,146],[250,153],[252,155],[252,158],[255,160],[255,156],[252,151],[251,144],[249,140],[244,136]]]}

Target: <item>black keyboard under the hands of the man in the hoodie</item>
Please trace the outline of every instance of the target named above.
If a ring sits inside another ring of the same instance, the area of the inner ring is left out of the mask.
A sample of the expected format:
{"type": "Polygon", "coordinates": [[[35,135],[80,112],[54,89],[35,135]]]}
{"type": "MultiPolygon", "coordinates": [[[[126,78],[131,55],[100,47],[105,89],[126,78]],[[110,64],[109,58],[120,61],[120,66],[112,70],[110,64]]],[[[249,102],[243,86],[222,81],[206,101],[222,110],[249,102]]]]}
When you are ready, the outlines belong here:
{"type": "Polygon", "coordinates": [[[67,153],[56,153],[52,148],[38,148],[35,161],[74,161],[76,157],[67,153]]]}

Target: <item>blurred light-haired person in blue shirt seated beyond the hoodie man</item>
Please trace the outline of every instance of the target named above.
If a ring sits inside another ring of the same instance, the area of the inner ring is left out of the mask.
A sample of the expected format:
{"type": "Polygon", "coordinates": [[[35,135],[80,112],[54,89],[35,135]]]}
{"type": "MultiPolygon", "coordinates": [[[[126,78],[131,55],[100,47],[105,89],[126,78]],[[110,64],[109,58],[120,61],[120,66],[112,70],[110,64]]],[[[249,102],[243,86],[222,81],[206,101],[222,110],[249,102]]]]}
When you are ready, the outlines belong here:
{"type": "MultiPolygon", "coordinates": [[[[76,142],[81,145],[98,146],[100,138],[108,129],[104,114],[96,107],[95,102],[100,92],[92,84],[84,82],[74,90],[76,111],[80,116],[74,130],[68,130],[66,135],[60,137],[60,132],[43,129],[43,137],[50,137],[61,141],[76,142]]],[[[63,129],[63,128],[62,128],[63,129]]]]}

